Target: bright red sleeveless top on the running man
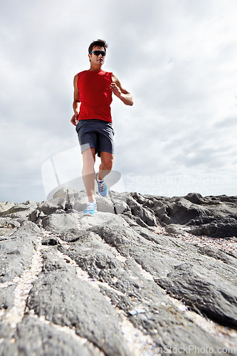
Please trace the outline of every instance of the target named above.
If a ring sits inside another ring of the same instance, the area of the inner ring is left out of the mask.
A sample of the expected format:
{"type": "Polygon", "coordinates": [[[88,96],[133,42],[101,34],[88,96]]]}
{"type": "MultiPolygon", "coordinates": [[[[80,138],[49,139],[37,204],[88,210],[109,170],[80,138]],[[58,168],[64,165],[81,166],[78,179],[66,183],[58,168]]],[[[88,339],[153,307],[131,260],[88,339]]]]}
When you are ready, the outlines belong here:
{"type": "Polygon", "coordinates": [[[104,70],[83,70],[78,73],[80,95],[79,120],[100,119],[112,122],[112,73],[104,70]]]}

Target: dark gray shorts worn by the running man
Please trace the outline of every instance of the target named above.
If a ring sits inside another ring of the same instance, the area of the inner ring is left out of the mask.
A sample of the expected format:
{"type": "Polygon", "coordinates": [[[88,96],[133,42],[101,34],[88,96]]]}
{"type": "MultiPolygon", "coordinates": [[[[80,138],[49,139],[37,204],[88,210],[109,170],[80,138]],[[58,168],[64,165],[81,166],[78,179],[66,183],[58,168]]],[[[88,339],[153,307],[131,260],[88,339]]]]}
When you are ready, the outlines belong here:
{"type": "Polygon", "coordinates": [[[100,152],[109,152],[114,155],[113,136],[115,132],[112,123],[99,120],[79,120],[75,127],[78,132],[81,153],[88,148],[95,148],[95,154],[100,157],[100,152]]]}

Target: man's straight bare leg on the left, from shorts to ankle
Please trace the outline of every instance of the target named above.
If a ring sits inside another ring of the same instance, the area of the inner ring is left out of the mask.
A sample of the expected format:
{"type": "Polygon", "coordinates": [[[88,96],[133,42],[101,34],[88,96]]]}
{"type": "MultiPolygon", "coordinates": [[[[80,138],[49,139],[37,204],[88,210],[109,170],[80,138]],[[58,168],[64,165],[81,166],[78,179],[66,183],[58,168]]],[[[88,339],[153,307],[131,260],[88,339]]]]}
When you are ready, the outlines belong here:
{"type": "Polygon", "coordinates": [[[88,201],[95,201],[95,148],[83,151],[83,183],[88,201]]]}

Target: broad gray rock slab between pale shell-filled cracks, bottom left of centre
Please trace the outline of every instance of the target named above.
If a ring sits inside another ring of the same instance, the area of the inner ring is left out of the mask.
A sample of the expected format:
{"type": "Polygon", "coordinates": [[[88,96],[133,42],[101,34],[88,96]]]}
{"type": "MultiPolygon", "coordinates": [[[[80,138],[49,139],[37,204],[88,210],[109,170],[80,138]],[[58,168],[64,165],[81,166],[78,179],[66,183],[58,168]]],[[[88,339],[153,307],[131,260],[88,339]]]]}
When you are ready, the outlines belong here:
{"type": "Polygon", "coordinates": [[[75,268],[50,254],[43,257],[43,275],[31,289],[27,307],[56,325],[75,328],[76,334],[100,347],[105,355],[130,355],[120,320],[105,298],[86,281],[80,281],[75,268]]]}

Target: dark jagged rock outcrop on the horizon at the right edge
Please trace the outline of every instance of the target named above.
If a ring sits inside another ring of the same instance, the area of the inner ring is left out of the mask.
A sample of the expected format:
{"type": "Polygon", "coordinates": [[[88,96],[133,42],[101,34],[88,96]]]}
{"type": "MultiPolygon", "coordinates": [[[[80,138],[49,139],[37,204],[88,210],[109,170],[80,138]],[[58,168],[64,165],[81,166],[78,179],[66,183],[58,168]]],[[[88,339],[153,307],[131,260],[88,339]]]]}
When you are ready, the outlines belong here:
{"type": "Polygon", "coordinates": [[[138,194],[133,197],[143,207],[148,206],[164,226],[178,224],[183,231],[197,236],[219,238],[237,234],[237,197],[201,197],[196,193],[173,198],[147,195],[141,199],[138,194]]]}

